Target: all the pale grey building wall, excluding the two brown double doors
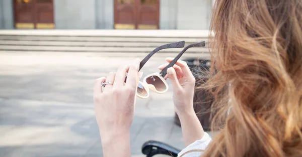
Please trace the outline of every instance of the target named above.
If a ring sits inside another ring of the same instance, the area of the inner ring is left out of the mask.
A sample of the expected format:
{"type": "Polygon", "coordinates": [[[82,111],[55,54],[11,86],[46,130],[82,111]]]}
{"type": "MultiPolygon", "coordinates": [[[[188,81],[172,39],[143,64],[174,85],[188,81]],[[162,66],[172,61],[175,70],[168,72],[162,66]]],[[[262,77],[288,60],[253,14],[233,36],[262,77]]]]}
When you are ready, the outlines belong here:
{"type": "MultiPolygon", "coordinates": [[[[208,29],[214,0],[161,0],[160,29],[208,29]]],[[[13,0],[0,0],[0,29],[14,29],[13,0]]],[[[54,0],[56,29],[113,29],[113,0],[54,0]]]]}

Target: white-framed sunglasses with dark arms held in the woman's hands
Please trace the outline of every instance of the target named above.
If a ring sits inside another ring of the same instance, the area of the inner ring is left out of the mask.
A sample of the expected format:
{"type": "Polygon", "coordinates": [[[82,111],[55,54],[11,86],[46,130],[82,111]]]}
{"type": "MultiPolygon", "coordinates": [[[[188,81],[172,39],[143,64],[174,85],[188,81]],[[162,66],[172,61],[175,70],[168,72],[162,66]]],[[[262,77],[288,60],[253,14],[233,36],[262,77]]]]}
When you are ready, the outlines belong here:
{"type": "MultiPolygon", "coordinates": [[[[177,42],[177,43],[171,43],[167,45],[162,45],[158,48],[156,48],[154,51],[150,52],[149,55],[147,55],[139,65],[139,70],[143,67],[143,65],[150,59],[151,56],[153,56],[156,52],[167,49],[167,48],[182,48],[184,47],[185,42],[177,42]],[[170,46],[168,46],[170,45],[170,46]],[[157,51],[156,51],[157,50],[157,51]]],[[[142,99],[149,97],[149,89],[153,90],[156,93],[165,93],[168,91],[168,84],[165,80],[165,76],[167,75],[167,69],[170,67],[173,67],[174,64],[179,60],[179,58],[189,49],[192,47],[204,47],[205,41],[193,43],[185,47],[174,59],[171,61],[166,68],[164,68],[161,72],[153,73],[150,75],[147,75],[144,77],[142,82],[138,82],[137,86],[137,93],[136,96],[142,99]]]]}

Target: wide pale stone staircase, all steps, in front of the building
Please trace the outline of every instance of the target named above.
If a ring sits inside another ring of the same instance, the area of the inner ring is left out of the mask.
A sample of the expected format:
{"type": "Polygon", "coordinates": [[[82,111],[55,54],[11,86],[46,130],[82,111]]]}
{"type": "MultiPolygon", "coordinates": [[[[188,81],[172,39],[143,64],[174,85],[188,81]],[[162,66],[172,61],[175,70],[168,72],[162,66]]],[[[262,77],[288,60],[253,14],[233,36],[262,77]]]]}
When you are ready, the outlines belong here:
{"type": "MultiPolygon", "coordinates": [[[[158,46],[207,41],[208,31],[186,30],[0,30],[0,52],[149,53],[158,46]]],[[[165,49],[165,54],[181,49],[165,49]]],[[[191,48],[187,56],[208,57],[208,47],[191,48]]]]}

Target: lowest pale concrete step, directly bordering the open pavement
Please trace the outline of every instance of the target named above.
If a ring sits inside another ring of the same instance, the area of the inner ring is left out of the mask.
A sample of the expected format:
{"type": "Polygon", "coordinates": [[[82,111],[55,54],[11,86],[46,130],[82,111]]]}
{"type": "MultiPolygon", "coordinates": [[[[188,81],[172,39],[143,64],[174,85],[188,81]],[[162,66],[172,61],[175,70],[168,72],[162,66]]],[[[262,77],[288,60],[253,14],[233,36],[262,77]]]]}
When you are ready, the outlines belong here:
{"type": "MultiPolygon", "coordinates": [[[[144,52],[148,53],[155,48],[137,48],[137,47],[78,47],[78,46],[19,46],[19,45],[2,45],[0,50],[2,51],[57,51],[57,52],[144,52]]],[[[179,53],[182,48],[177,49],[164,49],[163,52],[179,53]]],[[[207,48],[190,48],[187,53],[202,53],[207,52],[207,48]]]]}

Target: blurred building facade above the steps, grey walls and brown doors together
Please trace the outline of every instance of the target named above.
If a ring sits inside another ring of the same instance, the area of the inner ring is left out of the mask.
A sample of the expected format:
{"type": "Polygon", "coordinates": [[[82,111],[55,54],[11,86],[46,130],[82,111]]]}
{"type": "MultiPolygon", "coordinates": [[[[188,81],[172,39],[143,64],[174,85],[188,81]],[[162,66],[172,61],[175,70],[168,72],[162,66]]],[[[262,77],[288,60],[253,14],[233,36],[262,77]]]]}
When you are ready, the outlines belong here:
{"type": "Polygon", "coordinates": [[[207,30],[214,0],[0,0],[0,29],[207,30]]]}

